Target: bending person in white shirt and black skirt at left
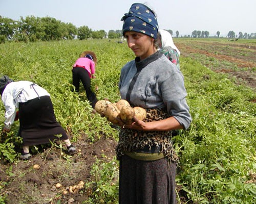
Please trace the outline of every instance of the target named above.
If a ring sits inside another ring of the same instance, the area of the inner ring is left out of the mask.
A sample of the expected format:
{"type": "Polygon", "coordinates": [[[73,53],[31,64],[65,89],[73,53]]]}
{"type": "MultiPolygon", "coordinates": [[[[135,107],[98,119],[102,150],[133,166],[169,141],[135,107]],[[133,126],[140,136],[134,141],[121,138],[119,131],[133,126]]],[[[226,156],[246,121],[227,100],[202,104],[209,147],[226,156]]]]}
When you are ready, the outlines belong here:
{"type": "Polygon", "coordinates": [[[46,144],[54,140],[62,140],[69,154],[75,154],[76,148],[56,121],[50,94],[44,88],[29,81],[14,82],[4,75],[0,78],[0,93],[6,109],[4,133],[10,132],[18,110],[19,136],[23,138],[20,159],[31,158],[29,146],[46,144]]]}

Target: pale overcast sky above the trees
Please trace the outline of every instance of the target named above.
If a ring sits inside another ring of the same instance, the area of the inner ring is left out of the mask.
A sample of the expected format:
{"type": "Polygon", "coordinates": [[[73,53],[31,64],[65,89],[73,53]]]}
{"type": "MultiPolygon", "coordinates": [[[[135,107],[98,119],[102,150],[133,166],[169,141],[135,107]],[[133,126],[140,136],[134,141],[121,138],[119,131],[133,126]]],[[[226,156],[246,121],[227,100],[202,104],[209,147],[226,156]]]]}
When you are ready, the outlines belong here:
{"type": "Polygon", "coordinates": [[[191,35],[194,30],[227,36],[256,33],[256,0],[0,0],[2,17],[53,17],[77,28],[121,30],[120,21],[133,3],[143,3],[157,14],[160,29],[191,35]]]}

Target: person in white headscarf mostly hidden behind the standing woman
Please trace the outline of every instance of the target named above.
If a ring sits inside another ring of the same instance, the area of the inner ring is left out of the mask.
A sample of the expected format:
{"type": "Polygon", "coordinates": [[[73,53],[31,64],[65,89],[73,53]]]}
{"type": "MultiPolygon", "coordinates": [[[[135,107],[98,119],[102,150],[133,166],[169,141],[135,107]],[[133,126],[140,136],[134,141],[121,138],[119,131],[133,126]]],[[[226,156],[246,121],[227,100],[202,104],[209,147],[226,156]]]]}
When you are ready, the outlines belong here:
{"type": "Polygon", "coordinates": [[[174,44],[173,37],[168,31],[161,29],[158,31],[156,45],[168,60],[180,68],[180,51],[174,44]]]}

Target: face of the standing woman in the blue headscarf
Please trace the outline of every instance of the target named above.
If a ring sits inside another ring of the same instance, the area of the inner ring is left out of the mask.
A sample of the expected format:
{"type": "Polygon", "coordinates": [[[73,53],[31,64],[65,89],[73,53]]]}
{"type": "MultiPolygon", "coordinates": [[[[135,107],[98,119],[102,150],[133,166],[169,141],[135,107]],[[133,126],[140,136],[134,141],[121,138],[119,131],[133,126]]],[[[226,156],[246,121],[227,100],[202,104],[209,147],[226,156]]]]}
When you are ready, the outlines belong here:
{"type": "Polygon", "coordinates": [[[127,39],[127,44],[131,48],[136,57],[141,60],[153,55],[156,52],[154,47],[154,38],[142,33],[127,31],[124,34],[127,39]]]}

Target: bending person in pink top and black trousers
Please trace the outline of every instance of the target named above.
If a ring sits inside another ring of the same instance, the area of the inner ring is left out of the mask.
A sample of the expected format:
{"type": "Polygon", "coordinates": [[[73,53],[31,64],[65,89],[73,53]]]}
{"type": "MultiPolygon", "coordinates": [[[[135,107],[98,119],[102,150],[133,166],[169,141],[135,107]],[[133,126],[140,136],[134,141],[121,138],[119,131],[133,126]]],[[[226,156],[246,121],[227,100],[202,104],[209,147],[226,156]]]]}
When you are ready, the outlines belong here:
{"type": "Polygon", "coordinates": [[[97,103],[96,94],[91,90],[91,79],[95,78],[95,66],[97,64],[97,57],[92,51],[84,51],[80,58],[78,58],[73,65],[72,78],[75,91],[79,92],[80,81],[86,90],[86,95],[94,108],[97,103]]]}

